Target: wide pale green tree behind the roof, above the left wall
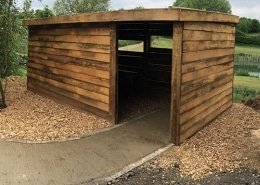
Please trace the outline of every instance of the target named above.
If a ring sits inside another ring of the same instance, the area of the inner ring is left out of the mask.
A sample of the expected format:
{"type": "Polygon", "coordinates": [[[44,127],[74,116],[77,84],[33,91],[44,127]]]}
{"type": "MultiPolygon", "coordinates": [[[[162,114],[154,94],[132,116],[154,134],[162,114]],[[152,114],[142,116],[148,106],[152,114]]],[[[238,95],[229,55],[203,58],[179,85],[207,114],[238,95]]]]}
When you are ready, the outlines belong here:
{"type": "Polygon", "coordinates": [[[109,5],[110,0],[56,0],[53,10],[56,15],[67,15],[108,11],[109,5]]]}

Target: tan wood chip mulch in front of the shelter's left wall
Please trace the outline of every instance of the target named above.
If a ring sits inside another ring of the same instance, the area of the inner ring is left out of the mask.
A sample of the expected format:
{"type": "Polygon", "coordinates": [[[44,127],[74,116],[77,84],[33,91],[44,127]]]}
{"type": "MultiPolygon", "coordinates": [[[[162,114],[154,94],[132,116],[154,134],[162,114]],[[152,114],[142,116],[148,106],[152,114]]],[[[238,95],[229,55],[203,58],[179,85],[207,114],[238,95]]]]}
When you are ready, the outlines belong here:
{"type": "Polygon", "coordinates": [[[26,77],[9,77],[7,108],[0,110],[0,138],[23,142],[75,139],[111,124],[26,90],[26,77]]]}

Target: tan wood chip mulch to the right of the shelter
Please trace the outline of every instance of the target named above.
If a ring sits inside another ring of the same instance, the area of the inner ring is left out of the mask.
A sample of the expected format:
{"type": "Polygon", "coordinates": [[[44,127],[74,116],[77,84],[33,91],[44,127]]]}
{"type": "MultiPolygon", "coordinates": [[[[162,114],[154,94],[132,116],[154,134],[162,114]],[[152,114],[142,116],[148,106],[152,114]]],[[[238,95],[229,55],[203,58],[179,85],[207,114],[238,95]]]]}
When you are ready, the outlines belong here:
{"type": "Polygon", "coordinates": [[[181,146],[172,147],[156,163],[179,166],[183,175],[201,179],[214,172],[248,167],[260,172],[260,112],[234,104],[181,146]]]}

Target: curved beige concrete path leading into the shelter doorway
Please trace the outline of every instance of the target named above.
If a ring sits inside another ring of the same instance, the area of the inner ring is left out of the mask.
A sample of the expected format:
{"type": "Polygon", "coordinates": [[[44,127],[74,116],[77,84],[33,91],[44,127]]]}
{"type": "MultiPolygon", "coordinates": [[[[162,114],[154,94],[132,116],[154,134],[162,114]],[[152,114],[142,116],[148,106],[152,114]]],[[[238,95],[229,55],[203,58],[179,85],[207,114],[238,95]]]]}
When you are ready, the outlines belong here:
{"type": "Polygon", "coordinates": [[[80,140],[0,141],[0,184],[79,185],[111,176],[169,144],[168,109],[80,140]]]}

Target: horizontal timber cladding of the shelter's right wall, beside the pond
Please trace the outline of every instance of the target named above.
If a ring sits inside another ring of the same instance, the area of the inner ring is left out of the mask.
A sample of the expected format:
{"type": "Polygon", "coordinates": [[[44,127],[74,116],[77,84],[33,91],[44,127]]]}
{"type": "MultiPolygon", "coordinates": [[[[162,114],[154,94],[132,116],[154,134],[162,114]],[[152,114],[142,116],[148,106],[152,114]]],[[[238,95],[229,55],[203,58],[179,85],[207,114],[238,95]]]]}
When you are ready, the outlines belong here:
{"type": "Polygon", "coordinates": [[[184,23],[180,142],[232,105],[234,35],[234,24],[184,23]]]}

